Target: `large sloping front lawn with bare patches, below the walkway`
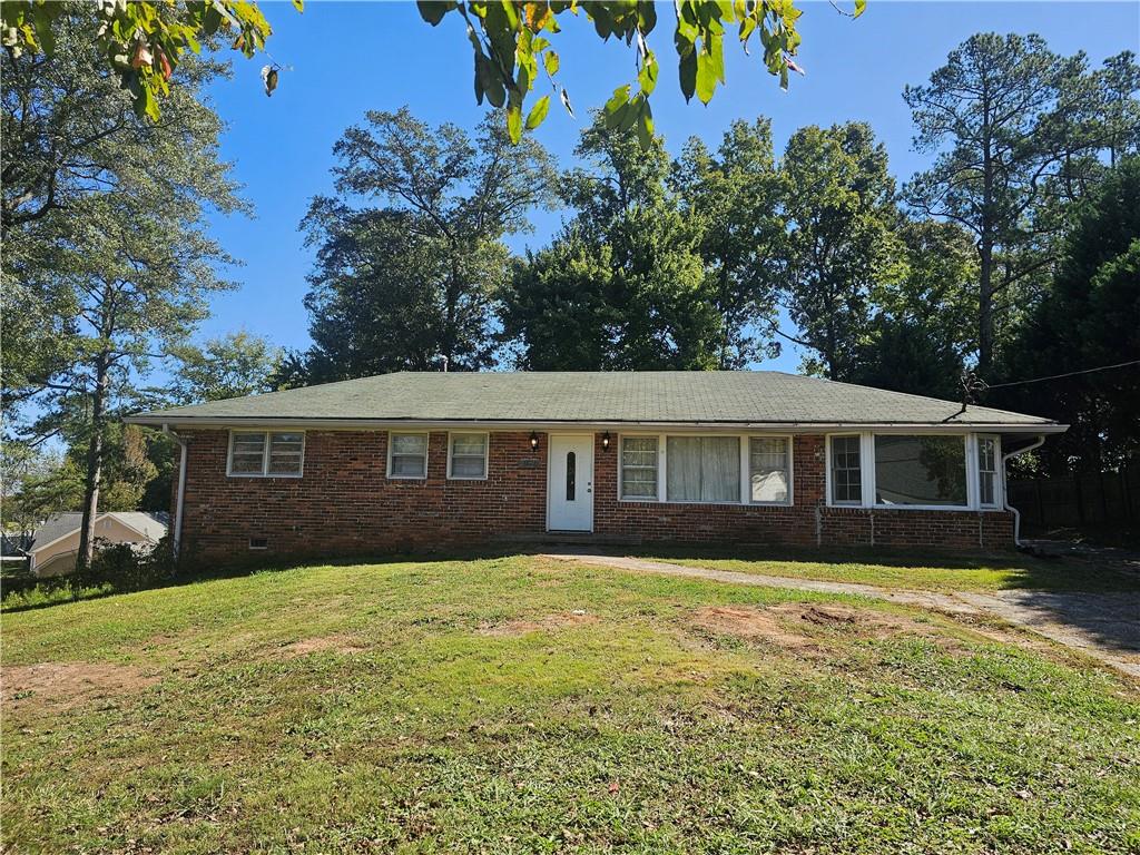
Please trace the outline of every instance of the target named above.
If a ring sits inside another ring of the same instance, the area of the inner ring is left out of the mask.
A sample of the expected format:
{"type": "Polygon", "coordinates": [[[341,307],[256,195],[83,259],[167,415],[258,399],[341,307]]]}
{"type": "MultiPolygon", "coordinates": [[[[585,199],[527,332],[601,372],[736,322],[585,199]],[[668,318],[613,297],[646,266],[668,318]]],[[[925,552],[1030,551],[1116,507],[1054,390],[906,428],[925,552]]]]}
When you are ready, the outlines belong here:
{"type": "Polygon", "coordinates": [[[883,603],[520,556],[2,630],[5,852],[1140,848],[1134,685],[883,603]]]}

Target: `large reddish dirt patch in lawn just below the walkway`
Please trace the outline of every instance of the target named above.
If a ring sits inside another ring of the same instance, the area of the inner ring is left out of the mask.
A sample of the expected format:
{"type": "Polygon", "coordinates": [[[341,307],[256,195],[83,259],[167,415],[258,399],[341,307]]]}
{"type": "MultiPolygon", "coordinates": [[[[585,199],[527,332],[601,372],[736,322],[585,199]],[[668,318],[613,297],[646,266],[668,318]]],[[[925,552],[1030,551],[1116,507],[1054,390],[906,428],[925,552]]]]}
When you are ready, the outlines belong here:
{"type": "Polygon", "coordinates": [[[697,610],[693,626],[718,635],[765,641],[806,653],[820,652],[829,638],[888,638],[911,634],[931,636],[931,627],[911,618],[846,605],[783,603],[766,609],[718,605],[697,610]]]}

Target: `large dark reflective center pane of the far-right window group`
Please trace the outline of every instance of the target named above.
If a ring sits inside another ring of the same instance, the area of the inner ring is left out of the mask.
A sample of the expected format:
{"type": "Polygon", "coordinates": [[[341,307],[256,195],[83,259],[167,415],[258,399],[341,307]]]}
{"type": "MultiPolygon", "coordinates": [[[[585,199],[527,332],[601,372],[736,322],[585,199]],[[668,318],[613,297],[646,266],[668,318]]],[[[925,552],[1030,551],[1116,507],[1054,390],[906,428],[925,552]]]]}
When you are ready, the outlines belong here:
{"type": "Polygon", "coordinates": [[[877,434],[874,503],[966,507],[966,437],[877,434]]]}

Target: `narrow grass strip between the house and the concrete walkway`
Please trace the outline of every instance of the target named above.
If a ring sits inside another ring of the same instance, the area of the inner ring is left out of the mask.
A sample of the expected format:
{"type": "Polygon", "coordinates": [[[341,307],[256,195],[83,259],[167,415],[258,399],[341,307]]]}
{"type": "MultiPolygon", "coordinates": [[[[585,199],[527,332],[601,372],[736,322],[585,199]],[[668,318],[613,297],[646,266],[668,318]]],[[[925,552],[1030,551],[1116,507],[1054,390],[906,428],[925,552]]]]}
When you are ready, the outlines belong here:
{"type": "Polygon", "coordinates": [[[846,581],[915,591],[1138,591],[1134,573],[1084,561],[1037,559],[1011,553],[955,556],[890,551],[849,551],[834,555],[788,549],[709,549],[651,547],[630,552],[638,557],[714,570],[846,581]]]}

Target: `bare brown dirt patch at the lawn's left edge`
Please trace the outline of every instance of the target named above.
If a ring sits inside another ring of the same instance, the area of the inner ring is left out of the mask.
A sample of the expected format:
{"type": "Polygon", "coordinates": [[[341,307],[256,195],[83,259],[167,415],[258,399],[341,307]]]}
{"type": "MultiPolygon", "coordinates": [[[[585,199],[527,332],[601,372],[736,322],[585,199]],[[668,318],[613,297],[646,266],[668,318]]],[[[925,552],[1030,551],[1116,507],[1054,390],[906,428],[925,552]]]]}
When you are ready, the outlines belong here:
{"type": "Polygon", "coordinates": [[[140,668],[109,662],[43,662],[0,671],[0,698],[7,707],[67,710],[141,691],[158,678],[140,668]]]}

